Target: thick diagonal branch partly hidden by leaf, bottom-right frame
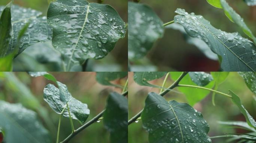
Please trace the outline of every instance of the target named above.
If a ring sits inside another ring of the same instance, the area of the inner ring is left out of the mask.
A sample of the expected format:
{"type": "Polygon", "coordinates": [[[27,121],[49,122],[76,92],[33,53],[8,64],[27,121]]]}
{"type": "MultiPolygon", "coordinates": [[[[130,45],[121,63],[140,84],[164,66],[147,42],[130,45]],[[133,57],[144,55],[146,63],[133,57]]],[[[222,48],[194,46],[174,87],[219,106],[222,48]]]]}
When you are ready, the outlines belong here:
{"type": "MultiPolygon", "coordinates": [[[[169,86],[166,90],[164,90],[163,92],[160,93],[161,96],[164,96],[166,93],[168,93],[171,89],[177,87],[179,85],[180,80],[182,80],[182,78],[184,76],[186,76],[186,74],[188,74],[188,72],[183,72],[180,77],[171,85],[169,86]]],[[[132,117],[129,121],[128,121],[128,125],[133,123],[134,121],[137,120],[138,117],[140,117],[141,113],[142,113],[143,109],[138,112],[138,114],[136,114],[134,117],[132,117]]]]}

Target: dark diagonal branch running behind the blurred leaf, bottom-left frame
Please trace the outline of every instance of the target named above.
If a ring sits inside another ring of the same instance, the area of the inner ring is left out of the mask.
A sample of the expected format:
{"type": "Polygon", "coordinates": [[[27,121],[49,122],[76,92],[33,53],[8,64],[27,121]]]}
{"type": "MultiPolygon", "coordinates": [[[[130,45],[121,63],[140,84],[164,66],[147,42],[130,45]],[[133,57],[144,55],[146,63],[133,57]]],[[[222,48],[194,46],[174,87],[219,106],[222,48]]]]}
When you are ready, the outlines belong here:
{"type": "MultiPolygon", "coordinates": [[[[128,94],[128,91],[125,91],[124,93],[122,93],[123,96],[126,96],[128,94]]],[[[87,128],[89,125],[95,123],[96,121],[99,120],[99,118],[103,115],[105,109],[103,111],[101,111],[98,115],[96,115],[94,118],[92,118],[92,120],[88,121],[87,123],[83,124],[81,127],[77,128],[77,130],[75,130],[73,133],[71,133],[65,140],[63,140],[61,143],[67,143],[68,141],[70,141],[74,136],[76,136],[78,133],[80,133],[80,131],[84,130],[85,128],[87,128]]]]}

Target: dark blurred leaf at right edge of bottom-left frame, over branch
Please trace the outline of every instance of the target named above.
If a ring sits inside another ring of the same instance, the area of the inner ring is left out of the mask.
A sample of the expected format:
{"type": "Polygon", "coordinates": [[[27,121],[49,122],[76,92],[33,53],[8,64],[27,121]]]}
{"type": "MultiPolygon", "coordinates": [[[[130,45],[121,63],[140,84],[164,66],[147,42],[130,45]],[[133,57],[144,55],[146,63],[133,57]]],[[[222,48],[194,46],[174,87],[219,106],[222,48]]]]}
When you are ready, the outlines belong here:
{"type": "Polygon", "coordinates": [[[111,143],[128,142],[128,100],[119,93],[112,92],[107,99],[103,123],[110,131],[111,143]]]}

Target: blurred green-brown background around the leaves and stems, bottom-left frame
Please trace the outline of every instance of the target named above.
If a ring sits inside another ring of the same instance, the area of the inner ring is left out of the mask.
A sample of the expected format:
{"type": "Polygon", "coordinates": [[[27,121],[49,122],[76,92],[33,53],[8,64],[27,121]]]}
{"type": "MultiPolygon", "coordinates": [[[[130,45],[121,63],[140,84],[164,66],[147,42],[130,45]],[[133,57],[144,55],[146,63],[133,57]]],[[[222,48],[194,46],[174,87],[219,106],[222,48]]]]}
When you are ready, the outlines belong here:
{"type": "MultiPolygon", "coordinates": [[[[120,88],[103,86],[97,83],[95,72],[51,72],[51,74],[58,81],[67,85],[74,98],[88,105],[90,115],[87,121],[105,108],[106,99],[110,92],[122,92],[120,88]]],[[[124,85],[126,80],[127,78],[123,78],[115,80],[113,83],[124,85]]],[[[24,107],[36,111],[45,128],[49,130],[54,143],[56,142],[60,115],[55,113],[43,100],[43,89],[48,83],[54,84],[44,77],[30,77],[26,72],[0,72],[0,100],[21,103],[24,107]],[[35,105],[35,102],[39,102],[39,104],[35,105]],[[48,115],[42,116],[42,112],[48,115]]],[[[77,120],[73,120],[73,123],[75,129],[81,126],[77,120]]],[[[63,117],[61,119],[60,141],[64,140],[70,133],[70,120],[63,117]]],[[[104,128],[103,121],[101,121],[81,131],[70,140],[70,143],[109,143],[109,136],[109,131],[104,128]]]]}

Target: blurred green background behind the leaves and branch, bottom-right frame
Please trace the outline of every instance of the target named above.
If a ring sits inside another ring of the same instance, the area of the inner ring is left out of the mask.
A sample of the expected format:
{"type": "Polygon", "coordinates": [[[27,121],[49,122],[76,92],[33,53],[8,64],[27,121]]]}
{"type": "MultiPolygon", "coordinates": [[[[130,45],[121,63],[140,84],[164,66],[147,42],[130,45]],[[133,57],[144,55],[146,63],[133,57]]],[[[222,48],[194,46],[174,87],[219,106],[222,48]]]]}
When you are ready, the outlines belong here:
{"type": "MultiPolygon", "coordinates": [[[[171,74],[170,74],[171,75],[171,74]]],[[[151,88],[147,86],[140,86],[133,80],[133,73],[129,72],[129,86],[128,86],[128,106],[129,113],[128,118],[130,119],[137,114],[144,107],[144,102],[147,97],[147,93],[156,92],[159,93],[160,89],[151,88]]],[[[164,77],[150,81],[153,85],[162,85],[164,77]]],[[[166,87],[170,86],[173,81],[168,78],[166,87]]],[[[248,110],[250,115],[256,119],[256,98],[255,95],[247,88],[243,78],[237,72],[229,73],[225,82],[223,82],[217,89],[220,92],[228,93],[228,89],[236,93],[244,107],[248,110]],[[254,98],[253,98],[254,97],[254,98]]],[[[168,92],[164,98],[167,101],[176,100],[177,102],[187,102],[185,95],[179,92],[176,88],[175,92],[168,92]]],[[[198,89],[203,90],[203,89],[198,89]]],[[[195,104],[193,108],[202,112],[204,119],[210,125],[210,131],[208,135],[219,136],[225,135],[225,133],[246,133],[242,129],[234,129],[228,126],[217,124],[217,121],[246,121],[243,114],[236,105],[234,105],[230,98],[216,94],[215,104],[213,106],[211,102],[211,93],[206,96],[201,102],[195,104]]],[[[196,95],[191,95],[196,96],[196,95]]],[[[171,136],[171,135],[170,135],[171,136]]],[[[226,143],[227,138],[212,139],[213,143],[226,143]]],[[[132,123],[128,126],[128,143],[149,143],[148,133],[142,127],[142,121],[138,123],[132,123]]],[[[231,142],[232,143],[232,142],[231,142]]],[[[234,142],[236,143],[236,142],[234,142]]]]}

